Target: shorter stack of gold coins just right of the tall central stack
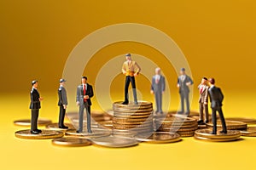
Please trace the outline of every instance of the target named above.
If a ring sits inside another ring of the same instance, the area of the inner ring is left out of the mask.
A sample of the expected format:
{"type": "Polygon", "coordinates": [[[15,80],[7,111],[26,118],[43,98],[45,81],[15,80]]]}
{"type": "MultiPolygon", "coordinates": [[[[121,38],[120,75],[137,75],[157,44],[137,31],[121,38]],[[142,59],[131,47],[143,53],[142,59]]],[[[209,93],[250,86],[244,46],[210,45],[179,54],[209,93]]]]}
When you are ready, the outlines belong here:
{"type": "Polygon", "coordinates": [[[198,128],[195,119],[176,116],[155,119],[154,126],[158,132],[178,133],[181,137],[194,136],[195,130],[198,128]]]}

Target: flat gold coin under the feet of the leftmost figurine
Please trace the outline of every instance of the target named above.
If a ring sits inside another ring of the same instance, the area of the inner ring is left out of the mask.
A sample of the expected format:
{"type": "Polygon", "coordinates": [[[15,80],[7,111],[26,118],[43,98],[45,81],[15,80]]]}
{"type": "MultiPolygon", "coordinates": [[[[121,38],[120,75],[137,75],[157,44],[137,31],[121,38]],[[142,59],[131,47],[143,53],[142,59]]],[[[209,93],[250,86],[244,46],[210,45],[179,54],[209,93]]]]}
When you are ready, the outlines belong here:
{"type": "Polygon", "coordinates": [[[20,139],[55,139],[64,135],[61,131],[42,130],[42,133],[32,134],[30,129],[15,132],[15,137],[20,139]]]}

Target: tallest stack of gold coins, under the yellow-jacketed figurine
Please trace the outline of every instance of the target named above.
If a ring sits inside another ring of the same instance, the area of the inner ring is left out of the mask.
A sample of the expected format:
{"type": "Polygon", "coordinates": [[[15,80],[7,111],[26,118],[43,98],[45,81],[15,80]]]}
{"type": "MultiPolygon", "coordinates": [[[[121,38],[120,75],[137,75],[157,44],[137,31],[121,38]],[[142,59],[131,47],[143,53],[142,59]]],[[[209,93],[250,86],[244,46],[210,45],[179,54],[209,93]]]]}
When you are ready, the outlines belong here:
{"type": "Polygon", "coordinates": [[[141,101],[137,105],[113,103],[113,135],[135,135],[153,132],[153,105],[141,101]]]}

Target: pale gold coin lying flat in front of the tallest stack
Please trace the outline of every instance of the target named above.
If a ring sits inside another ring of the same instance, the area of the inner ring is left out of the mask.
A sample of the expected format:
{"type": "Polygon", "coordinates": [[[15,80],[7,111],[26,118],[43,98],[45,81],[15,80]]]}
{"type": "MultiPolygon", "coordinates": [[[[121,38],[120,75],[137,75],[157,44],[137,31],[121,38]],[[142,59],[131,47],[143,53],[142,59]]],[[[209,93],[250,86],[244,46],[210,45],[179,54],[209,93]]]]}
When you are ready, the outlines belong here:
{"type": "Polygon", "coordinates": [[[137,139],[125,138],[120,136],[107,136],[96,139],[91,139],[93,144],[111,147],[111,148],[124,148],[138,144],[137,139]]]}

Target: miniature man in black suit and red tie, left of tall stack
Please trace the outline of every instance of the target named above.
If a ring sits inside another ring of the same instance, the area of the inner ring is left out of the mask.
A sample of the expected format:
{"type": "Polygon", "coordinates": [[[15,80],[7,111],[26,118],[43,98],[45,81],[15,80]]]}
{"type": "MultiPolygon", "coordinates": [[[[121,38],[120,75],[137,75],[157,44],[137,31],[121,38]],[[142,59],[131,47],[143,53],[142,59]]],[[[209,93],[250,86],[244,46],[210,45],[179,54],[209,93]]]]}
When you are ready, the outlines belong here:
{"type": "Polygon", "coordinates": [[[90,129],[90,98],[93,97],[93,89],[87,83],[87,77],[82,77],[82,84],[77,89],[77,105],[79,106],[79,129],[77,133],[83,133],[84,109],[87,117],[87,132],[92,133],[90,129]]]}

